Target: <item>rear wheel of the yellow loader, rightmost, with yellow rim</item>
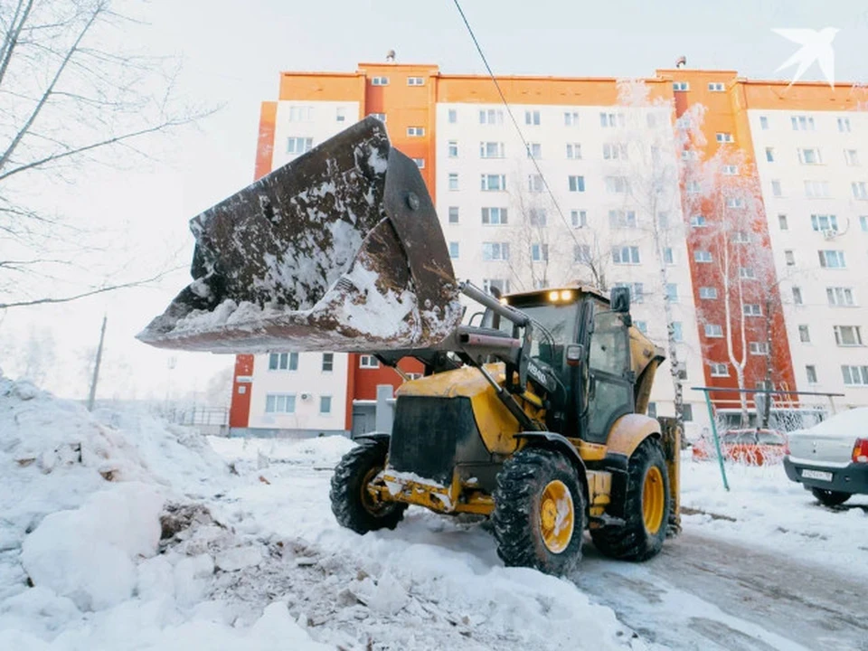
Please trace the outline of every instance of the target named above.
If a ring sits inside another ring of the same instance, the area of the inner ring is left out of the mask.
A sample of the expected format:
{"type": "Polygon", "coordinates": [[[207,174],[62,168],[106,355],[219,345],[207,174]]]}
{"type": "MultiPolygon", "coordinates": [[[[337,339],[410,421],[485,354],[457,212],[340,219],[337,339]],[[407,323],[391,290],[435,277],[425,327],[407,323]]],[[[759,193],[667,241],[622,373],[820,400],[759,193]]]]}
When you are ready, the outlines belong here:
{"type": "Polygon", "coordinates": [[[627,466],[624,524],[591,529],[590,538],[609,558],[646,561],[663,548],[670,510],[663,449],[656,439],[646,439],[627,466]]]}

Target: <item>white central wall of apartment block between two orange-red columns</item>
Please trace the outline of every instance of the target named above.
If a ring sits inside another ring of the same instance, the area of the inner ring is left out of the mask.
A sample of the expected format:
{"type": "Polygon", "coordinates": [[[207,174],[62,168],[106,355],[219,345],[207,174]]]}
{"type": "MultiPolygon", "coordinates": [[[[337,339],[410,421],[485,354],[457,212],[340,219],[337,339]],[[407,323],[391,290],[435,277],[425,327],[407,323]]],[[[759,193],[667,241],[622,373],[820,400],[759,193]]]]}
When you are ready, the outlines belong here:
{"type": "MultiPolygon", "coordinates": [[[[514,105],[512,111],[539,170],[503,105],[437,106],[435,203],[458,278],[513,292],[592,284],[595,272],[581,261],[590,252],[596,274],[604,277],[607,286],[628,283],[642,290],[641,297],[632,292],[633,318],[665,348],[665,289],[652,216],[642,204],[642,189],[628,191],[621,180],[641,177],[637,166],[648,165],[650,156],[643,159],[637,147],[650,152],[651,144],[637,144],[637,138],[648,139],[646,134],[653,131],[648,125],[654,119],[667,134],[662,156],[672,158],[675,165],[668,112],[551,105],[514,105]],[[648,113],[654,118],[648,118],[648,113]],[[553,199],[538,178],[540,172],[553,199]],[[618,249],[617,256],[613,249],[618,249]],[[622,255],[625,249],[626,256],[622,255]],[[546,253],[548,261],[543,259],[546,253]]],[[[679,356],[687,372],[685,386],[690,386],[702,384],[704,376],[676,179],[673,176],[669,201],[656,210],[667,213],[670,225],[665,242],[671,250],[666,254],[667,258],[671,254],[666,283],[674,286],[670,291],[676,294],[674,320],[684,340],[679,356]]],[[[707,421],[703,394],[685,391],[684,395],[693,411],[687,434],[693,436],[707,421]]],[[[668,362],[657,373],[651,400],[657,415],[674,413],[668,362]]]]}

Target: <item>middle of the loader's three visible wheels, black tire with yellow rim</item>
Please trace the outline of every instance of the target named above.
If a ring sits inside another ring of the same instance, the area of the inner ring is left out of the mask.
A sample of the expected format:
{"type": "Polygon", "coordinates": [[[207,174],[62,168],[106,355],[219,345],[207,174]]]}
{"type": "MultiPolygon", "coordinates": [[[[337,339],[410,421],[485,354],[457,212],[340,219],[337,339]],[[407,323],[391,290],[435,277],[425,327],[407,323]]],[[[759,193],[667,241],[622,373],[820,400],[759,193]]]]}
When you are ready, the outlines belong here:
{"type": "Polygon", "coordinates": [[[492,524],[497,554],[507,566],[564,575],[581,559],[584,491],[569,458],[523,449],[497,475],[492,524]]]}

